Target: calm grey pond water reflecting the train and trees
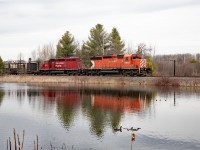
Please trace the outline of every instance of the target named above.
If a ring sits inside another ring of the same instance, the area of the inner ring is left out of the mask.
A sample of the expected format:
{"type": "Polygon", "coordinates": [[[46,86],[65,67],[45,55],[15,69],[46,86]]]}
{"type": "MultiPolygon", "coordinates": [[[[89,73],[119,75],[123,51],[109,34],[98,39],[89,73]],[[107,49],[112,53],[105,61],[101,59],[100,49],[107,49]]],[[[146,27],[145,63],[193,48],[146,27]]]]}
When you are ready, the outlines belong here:
{"type": "Polygon", "coordinates": [[[0,150],[13,128],[25,150],[199,150],[200,90],[0,84],[0,150]]]}

